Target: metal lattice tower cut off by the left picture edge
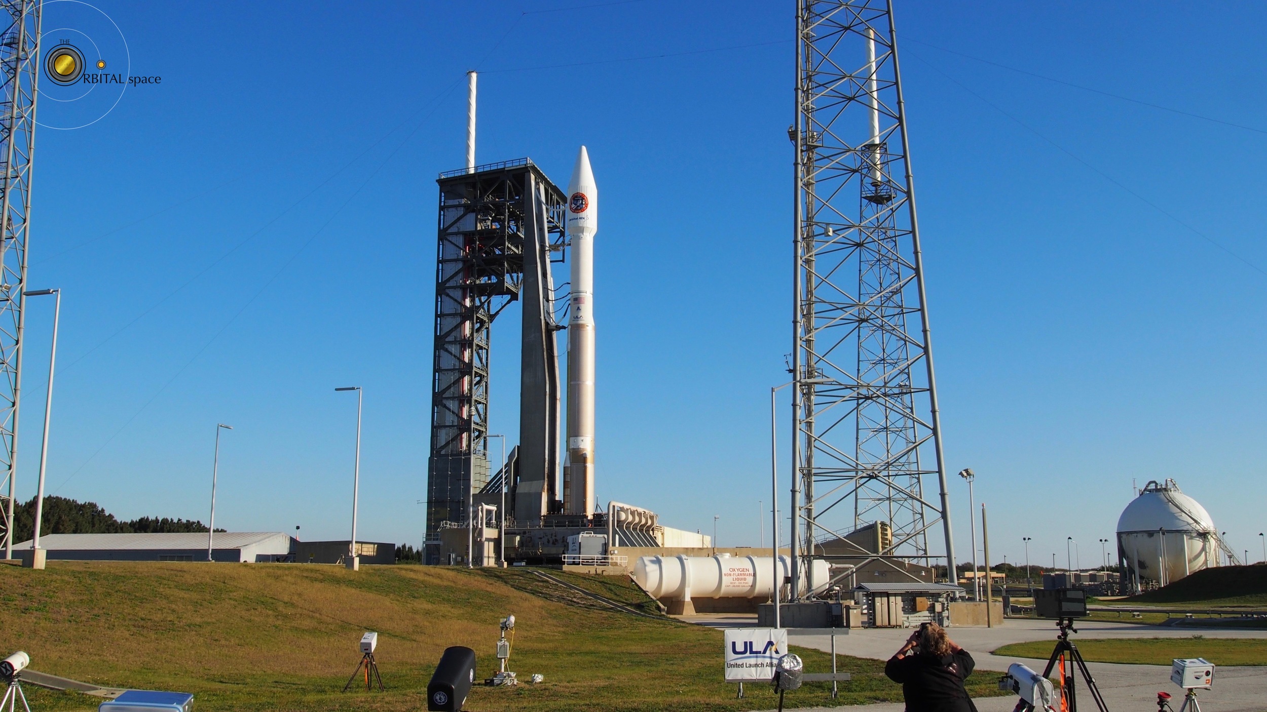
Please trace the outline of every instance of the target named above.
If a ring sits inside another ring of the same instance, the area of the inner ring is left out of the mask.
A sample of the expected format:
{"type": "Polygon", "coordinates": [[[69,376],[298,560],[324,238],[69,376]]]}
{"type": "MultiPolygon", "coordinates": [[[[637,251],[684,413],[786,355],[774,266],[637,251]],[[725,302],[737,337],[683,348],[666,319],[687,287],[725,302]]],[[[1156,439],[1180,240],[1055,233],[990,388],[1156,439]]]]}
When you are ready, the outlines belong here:
{"type": "Polygon", "coordinates": [[[25,322],[30,168],[35,151],[39,0],[0,0],[0,526],[13,557],[18,404],[25,322]]]}

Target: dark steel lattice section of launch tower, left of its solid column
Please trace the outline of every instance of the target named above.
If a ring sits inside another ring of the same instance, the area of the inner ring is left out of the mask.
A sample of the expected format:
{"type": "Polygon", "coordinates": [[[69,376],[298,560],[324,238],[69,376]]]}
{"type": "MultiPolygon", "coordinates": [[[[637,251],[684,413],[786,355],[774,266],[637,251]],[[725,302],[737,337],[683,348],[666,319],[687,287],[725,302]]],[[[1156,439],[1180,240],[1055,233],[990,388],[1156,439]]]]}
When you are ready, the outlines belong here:
{"type": "Polygon", "coordinates": [[[519,298],[526,252],[531,286],[540,258],[561,250],[565,205],[563,191],[527,158],[447,171],[438,184],[427,556],[441,528],[468,521],[471,497],[489,480],[490,328],[519,298]]]}

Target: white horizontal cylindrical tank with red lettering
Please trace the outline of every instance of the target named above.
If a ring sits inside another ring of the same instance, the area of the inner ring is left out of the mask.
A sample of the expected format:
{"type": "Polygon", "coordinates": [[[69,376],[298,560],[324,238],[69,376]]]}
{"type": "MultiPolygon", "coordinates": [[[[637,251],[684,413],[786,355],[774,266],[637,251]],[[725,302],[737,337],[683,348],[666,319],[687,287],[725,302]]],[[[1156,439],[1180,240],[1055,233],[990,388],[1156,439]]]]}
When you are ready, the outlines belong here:
{"type": "MultiPolygon", "coordinates": [[[[812,561],[815,592],[827,588],[827,563],[812,561]]],[[[780,579],[792,575],[792,563],[779,556],[780,579]]],[[[803,569],[802,569],[803,574],[803,569]]],[[[651,598],[770,598],[774,594],[774,560],[769,556],[640,556],[634,580],[651,598]]],[[[802,595],[806,576],[801,576],[802,595]]]]}

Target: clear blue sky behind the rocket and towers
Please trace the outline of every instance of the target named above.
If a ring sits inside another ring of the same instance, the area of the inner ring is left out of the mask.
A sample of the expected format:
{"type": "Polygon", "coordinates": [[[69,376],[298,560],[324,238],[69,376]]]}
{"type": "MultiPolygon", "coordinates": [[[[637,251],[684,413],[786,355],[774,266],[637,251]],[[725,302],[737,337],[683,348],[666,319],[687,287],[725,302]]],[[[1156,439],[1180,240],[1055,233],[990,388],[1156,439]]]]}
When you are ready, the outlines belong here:
{"type": "MultiPolygon", "coordinates": [[[[333,388],[362,385],[361,535],[419,544],[435,179],[462,162],[474,67],[481,162],[565,184],[578,144],[593,158],[599,500],[758,544],[789,351],[791,5],[101,0],[162,84],[38,134],[30,286],[65,290],[48,492],[205,521],[224,422],[218,524],[346,537],[355,403],[333,388]]],[[[996,559],[1031,536],[1063,565],[1074,536],[1095,563],[1131,483],[1167,476],[1261,557],[1267,8],[898,1],[897,24],[948,462],[978,473],[996,559]]],[[[23,498],[51,310],[28,317],[23,498]]]]}

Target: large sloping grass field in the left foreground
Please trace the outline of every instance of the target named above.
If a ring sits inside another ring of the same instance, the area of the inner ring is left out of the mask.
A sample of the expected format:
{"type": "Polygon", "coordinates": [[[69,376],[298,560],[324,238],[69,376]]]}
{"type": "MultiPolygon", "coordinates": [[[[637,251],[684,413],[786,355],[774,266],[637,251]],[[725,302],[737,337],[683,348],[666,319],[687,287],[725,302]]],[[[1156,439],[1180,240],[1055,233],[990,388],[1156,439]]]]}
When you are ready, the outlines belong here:
{"type": "MultiPolygon", "coordinates": [[[[555,575],[560,575],[554,573],[555,575]]],[[[627,579],[565,576],[607,598],[654,612],[627,579]]],[[[483,711],[770,708],[768,685],[721,679],[722,633],[669,618],[603,608],[531,570],[441,566],[52,561],[44,571],[0,566],[0,650],[25,650],[32,668],[105,687],[191,692],[201,711],[414,711],[441,651],[473,647],[492,677],[497,623],[517,618],[512,669],[540,685],[478,687],[483,711]],[[356,666],[361,632],[379,631],[385,693],[340,689],[356,666]]],[[[829,655],[796,650],[810,671],[829,655]]],[[[841,655],[853,673],[831,701],[825,684],[788,698],[796,707],[900,701],[883,663],[841,655]]],[[[997,694],[996,675],[969,678],[997,694]]],[[[33,708],[91,709],[98,698],[27,685],[33,708]]]]}

